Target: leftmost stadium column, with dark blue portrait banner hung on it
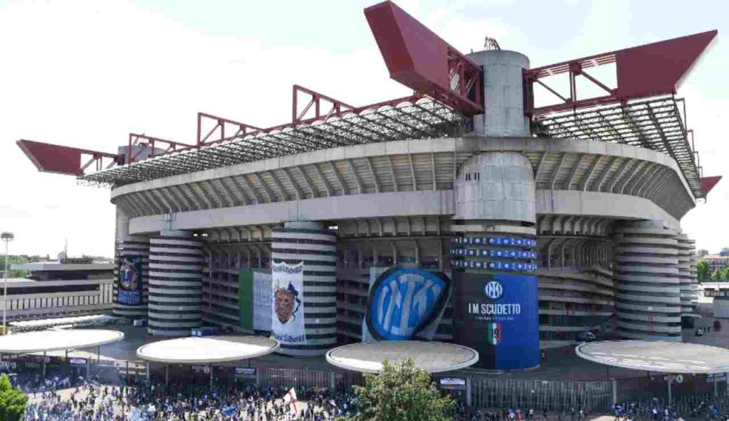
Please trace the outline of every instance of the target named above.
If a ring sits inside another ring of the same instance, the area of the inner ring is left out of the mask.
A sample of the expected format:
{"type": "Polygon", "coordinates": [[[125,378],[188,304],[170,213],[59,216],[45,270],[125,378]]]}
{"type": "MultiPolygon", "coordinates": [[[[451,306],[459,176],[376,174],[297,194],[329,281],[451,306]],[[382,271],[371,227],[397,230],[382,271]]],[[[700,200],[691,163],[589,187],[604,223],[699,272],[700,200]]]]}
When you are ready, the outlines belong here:
{"type": "Polygon", "coordinates": [[[114,315],[147,318],[149,238],[129,235],[129,218],[117,206],[114,315]]]}

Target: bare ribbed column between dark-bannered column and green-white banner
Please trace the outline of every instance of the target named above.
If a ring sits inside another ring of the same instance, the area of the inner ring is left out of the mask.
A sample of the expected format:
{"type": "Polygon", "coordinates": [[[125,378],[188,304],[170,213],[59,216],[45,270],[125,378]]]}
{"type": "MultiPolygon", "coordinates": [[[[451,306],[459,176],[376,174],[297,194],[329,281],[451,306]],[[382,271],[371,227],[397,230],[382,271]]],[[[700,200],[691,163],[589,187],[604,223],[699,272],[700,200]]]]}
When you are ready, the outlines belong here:
{"type": "Polygon", "coordinates": [[[155,336],[187,336],[200,326],[203,245],[183,231],[149,240],[149,322],[155,336]]]}

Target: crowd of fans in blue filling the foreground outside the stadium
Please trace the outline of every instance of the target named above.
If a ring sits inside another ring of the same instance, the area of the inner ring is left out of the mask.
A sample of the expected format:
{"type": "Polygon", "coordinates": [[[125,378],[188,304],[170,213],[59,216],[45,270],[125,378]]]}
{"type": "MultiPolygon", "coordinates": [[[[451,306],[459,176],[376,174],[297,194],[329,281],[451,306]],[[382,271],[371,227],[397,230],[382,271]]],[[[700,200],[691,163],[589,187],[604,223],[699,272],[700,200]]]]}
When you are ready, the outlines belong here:
{"type": "MultiPolygon", "coordinates": [[[[287,399],[289,390],[254,385],[192,385],[171,382],[161,385],[143,380],[122,382],[98,377],[84,378],[73,372],[50,373],[42,377],[36,370],[19,371],[12,382],[28,394],[26,421],[280,421],[332,420],[359,410],[356,396],[335,395],[311,387],[297,390],[297,398],[287,399]]],[[[729,421],[722,412],[729,402],[700,398],[665,401],[653,398],[612,405],[615,421],[729,421]]],[[[534,409],[473,409],[460,401],[452,414],[457,421],[585,421],[600,414],[580,408],[561,411],[534,409]]]]}

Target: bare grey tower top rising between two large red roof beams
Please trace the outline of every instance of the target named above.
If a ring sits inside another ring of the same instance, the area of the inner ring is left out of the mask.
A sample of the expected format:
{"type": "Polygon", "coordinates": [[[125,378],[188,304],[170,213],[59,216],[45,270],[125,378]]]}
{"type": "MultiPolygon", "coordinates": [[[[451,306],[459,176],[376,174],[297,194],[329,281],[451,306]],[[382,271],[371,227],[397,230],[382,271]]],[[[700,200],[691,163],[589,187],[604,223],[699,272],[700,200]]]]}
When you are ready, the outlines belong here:
{"type": "Polygon", "coordinates": [[[476,135],[526,137],[531,135],[524,115],[522,70],[529,58],[519,52],[487,50],[468,58],[483,66],[484,114],[473,117],[476,135]]]}

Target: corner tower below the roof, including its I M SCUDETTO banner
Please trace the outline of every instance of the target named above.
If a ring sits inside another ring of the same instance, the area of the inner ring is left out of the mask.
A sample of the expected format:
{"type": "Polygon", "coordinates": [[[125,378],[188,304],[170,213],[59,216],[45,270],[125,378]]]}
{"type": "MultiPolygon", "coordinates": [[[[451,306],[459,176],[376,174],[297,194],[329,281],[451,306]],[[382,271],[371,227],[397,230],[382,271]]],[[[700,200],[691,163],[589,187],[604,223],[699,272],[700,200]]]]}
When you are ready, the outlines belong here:
{"type": "Polygon", "coordinates": [[[474,347],[478,366],[539,366],[535,184],[515,152],[478,154],[456,177],[451,230],[453,339],[474,347]]]}

